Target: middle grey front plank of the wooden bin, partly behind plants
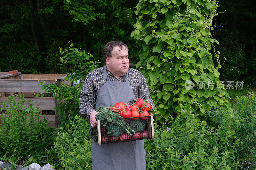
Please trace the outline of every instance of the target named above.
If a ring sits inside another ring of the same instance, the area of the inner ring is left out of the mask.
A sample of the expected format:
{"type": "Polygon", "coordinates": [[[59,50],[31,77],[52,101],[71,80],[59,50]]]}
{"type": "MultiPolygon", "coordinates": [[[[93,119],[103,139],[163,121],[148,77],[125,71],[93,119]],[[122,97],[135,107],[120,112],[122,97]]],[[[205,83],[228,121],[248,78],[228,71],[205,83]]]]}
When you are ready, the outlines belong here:
{"type": "MultiPolygon", "coordinates": [[[[15,97],[16,102],[21,101],[19,97],[15,97]]],[[[38,98],[24,98],[25,99],[25,107],[30,107],[28,100],[31,100],[34,107],[39,107],[40,110],[54,110],[55,107],[54,101],[55,98],[53,97],[38,97],[38,98]]],[[[0,97],[0,102],[7,102],[9,101],[8,97],[0,97]]]]}

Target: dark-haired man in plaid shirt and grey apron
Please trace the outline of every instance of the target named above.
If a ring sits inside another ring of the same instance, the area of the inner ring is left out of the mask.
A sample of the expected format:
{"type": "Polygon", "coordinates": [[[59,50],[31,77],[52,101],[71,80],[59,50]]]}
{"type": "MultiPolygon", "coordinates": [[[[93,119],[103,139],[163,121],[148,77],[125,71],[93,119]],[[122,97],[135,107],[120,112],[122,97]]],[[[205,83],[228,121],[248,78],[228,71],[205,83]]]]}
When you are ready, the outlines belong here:
{"type": "MultiPolygon", "coordinates": [[[[128,47],[123,42],[110,41],[103,48],[103,57],[106,66],[87,75],[79,96],[80,115],[90,121],[90,128],[97,126],[95,110],[100,106],[142,98],[154,108],[146,78],[138,70],[129,68],[128,47]]],[[[144,140],[101,146],[92,142],[91,147],[92,169],[146,169],[144,140]]]]}

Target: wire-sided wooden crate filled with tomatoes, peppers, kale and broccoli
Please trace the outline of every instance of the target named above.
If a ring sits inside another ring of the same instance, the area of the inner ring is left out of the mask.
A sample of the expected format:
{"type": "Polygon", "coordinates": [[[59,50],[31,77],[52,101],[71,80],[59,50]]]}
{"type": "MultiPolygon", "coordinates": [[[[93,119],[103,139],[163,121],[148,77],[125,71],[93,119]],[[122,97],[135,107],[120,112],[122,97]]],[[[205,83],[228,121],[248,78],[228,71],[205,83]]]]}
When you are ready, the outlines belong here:
{"type": "MultiPolygon", "coordinates": [[[[141,99],[142,100],[142,99],[141,99]]],[[[98,126],[91,129],[93,141],[99,145],[104,143],[127,142],[141,139],[153,139],[154,112],[147,102],[139,103],[140,98],[132,106],[122,102],[114,106],[97,109],[98,126]]]]}

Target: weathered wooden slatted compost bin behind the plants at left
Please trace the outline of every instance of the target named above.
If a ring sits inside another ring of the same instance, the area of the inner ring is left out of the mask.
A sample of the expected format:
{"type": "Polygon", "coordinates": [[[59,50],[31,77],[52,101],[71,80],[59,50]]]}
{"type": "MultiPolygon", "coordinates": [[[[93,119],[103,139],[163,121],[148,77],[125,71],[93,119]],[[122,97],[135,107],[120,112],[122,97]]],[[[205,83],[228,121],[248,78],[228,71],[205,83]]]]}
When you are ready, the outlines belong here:
{"type": "MultiPolygon", "coordinates": [[[[42,93],[41,85],[38,85],[41,81],[44,85],[47,84],[64,84],[71,85],[70,81],[66,81],[66,74],[9,74],[9,72],[0,72],[0,102],[9,101],[7,96],[13,95],[17,92],[24,93],[25,107],[30,107],[28,100],[31,100],[34,107],[39,107],[40,110],[54,110],[54,107],[59,105],[58,101],[53,97],[38,97],[34,96],[34,93],[42,93]]],[[[40,95],[39,95],[40,96],[40,95]]],[[[15,97],[17,101],[20,101],[19,97],[15,97]]],[[[28,115],[29,116],[29,115],[28,115]]],[[[48,127],[59,126],[59,114],[58,110],[55,110],[54,115],[42,115],[40,119],[48,119],[52,121],[48,124],[48,127]]],[[[2,123],[0,118],[0,123],[2,123]]]]}

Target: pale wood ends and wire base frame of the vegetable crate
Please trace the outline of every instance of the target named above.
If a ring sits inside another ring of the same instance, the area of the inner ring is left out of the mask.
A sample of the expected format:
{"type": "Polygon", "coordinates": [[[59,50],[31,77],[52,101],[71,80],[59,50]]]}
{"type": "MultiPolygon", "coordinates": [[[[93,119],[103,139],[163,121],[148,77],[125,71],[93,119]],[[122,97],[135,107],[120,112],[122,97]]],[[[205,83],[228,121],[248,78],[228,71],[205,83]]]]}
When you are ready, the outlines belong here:
{"type": "MultiPolygon", "coordinates": [[[[116,141],[111,141],[109,140],[108,142],[104,142],[104,143],[116,143],[116,142],[127,142],[127,141],[134,141],[134,140],[141,140],[141,139],[154,139],[154,127],[153,127],[153,115],[149,115],[149,116],[144,116],[144,117],[148,117],[145,122],[146,122],[146,126],[144,130],[148,131],[148,137],[140,137],[140,138],[132,138],[129,140],[121,140],[120,138],[116,141]]],[[[101,128],[100,128],[100,120],[97,120],[98,125],[97,125],[97,131],[98,131],[98,143],[99,145],[101,145],[101,128]]]]}

